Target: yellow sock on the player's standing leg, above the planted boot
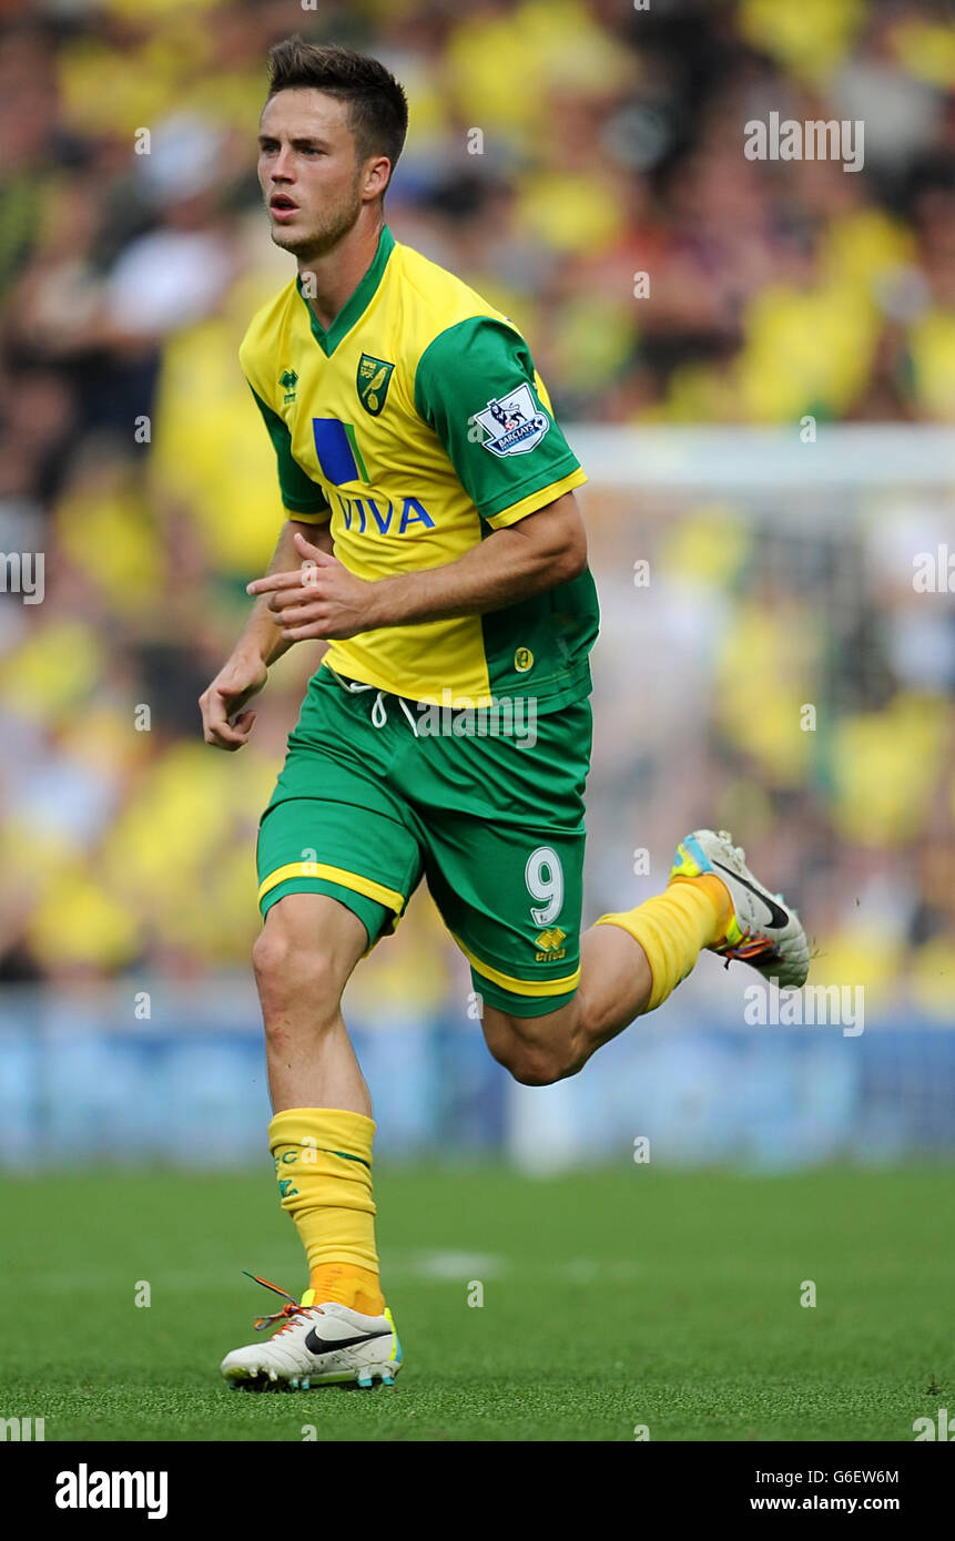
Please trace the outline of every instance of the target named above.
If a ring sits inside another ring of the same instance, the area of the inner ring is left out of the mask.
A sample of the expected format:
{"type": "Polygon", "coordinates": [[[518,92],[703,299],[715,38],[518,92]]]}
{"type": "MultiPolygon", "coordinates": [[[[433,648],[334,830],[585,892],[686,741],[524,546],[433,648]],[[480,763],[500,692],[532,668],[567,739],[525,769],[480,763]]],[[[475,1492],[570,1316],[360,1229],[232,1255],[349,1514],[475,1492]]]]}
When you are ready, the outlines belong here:
{"type": "Polygon", "coordinates": [[[375,1123],[339,1108],[289,1108],[268,1125],[282,1208],[295,1220],[315,1302],[380,1316],[372,1140],[375,1123]]]}

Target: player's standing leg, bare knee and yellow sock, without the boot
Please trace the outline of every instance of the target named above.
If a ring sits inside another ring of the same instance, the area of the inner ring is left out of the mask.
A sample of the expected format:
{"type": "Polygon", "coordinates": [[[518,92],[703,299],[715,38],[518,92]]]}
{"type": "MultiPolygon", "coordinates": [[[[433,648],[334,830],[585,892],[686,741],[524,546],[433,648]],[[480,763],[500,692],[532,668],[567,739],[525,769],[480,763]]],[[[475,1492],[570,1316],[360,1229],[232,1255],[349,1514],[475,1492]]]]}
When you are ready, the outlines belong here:
{"type": "Polygon", "coordinates": [[[384,1307],[372,1200],[372,1103],[341,994],[367,948],[358,915],[324,894],[289,894],[255,946],[275,1116],[268,1143],[316,1302],[384,1307]]]}

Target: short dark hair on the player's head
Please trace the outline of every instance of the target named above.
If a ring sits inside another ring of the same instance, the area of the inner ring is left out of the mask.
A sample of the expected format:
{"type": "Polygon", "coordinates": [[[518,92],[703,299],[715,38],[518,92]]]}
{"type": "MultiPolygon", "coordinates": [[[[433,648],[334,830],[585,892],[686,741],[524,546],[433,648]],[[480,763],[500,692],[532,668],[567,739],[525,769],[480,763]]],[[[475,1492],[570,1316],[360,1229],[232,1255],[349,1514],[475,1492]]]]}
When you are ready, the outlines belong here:
{"type": "Polygon", "coordinates": [[[305,43],[296,32],[268,49],[267,100],[295,88],[346,102],[359,159],[387,156],[395,170],[407,134],[407,99],[384,65],[338,43],[305,43]]]}

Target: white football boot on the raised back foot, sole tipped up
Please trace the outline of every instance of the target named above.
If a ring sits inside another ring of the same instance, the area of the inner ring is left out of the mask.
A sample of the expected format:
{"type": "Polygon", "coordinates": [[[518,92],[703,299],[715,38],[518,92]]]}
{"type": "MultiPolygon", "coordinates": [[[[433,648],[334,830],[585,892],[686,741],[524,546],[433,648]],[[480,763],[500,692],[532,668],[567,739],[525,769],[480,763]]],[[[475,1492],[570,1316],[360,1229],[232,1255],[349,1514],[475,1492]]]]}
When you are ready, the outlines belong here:
{"type": "Polygon", "coordinates": [[[733,920],[711,952],[727,960],[748,963],[781,989],[799,989],[808,974],[808,942],[795,909],[782,894],[764,888],[745,863],[745,851],[720,829],[694,829],[680,840],[670,869],[670,880],[713,872],[730,891],[733,920]]]}

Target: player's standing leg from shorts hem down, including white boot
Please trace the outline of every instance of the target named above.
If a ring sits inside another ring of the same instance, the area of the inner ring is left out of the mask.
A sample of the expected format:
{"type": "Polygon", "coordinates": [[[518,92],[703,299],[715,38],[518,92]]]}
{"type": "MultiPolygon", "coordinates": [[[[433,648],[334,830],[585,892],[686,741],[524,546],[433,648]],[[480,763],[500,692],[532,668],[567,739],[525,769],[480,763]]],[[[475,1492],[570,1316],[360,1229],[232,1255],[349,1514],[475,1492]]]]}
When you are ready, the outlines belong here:
{"type": "Polygon", "coordinates": [[[305,1248],[310,1285],[301,1301],[268,1285],[285,1305],[256,1327],[275,1322],[278,1331],[225,1356],[222,1375],[233,1387],[267,1390],[278,1382],[309,1390],[338,1381],[372,1387],[375,1379],[393,1385],[401,1368],[401,1344],[378,1284],[375,1125],[341,1017],[343,989],[383,915],[384,906],[369,909],[355,895],[339,901],[313,891],[287,892],[272,903],[255,948],[275,1108],[268,1145],[282,1208],[305,1248]]]}

